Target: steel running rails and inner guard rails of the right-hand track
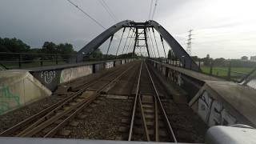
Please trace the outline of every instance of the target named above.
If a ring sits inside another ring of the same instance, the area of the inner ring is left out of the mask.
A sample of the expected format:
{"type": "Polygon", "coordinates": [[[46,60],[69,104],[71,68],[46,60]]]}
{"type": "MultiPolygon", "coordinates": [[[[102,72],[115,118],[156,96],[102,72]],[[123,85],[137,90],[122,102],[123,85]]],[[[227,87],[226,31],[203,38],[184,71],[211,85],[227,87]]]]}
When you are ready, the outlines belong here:
{"type": "Polygon", "coordinates": [[[173,142],[177,142],[177,138],[175,137],[174,134],[174,130],[172,128],[172,126],[170,125],[170,120],[166,115],[166,110],[164,109],[163,105],[162,105],[162,101],[159,97],[158,94],[158,90],[154,84],[153,78],[150,74],[150,70],[148,69],[148,67],[146,66],[146,73],[149,76],[150,79],[150,85],[154,87],[154,94],[152,94],[152,97],[154,99],[154,102],[152,105],[154,107],[154,138],[150,138],[150,130],[148,129],[147,123],[150,122],[149,120],[146,119],[146,110],[145,110],[145,106],[142,104],[142,92],[141,92],[141,81],[142,81],[142,66],[146,66],[146,62],[142,62],[141,66],[140,66],[140,70],[138,73],[138,82],[136,85],[136,94],[134,97],[134,104],[133,104],[133,110],[132,110],[132,115],[131,115],[131,120],[130,120],[130,130],[129,130],[129,135],[128,135],[128,141],[131,141],[133,139],[133,131],[134,131],[134,121],[135,121],[135,114],[136,110],[140,111],[140,116],[142,119],[142,126],[143,126],[143,131],[144,134],[146,136],[146,141],[150,142],[150,141],[155,141],[155,142],[159,142],[159,116],[158,116],[158,110],[160,110],[163,118],[164,118],[164,122],[166,123],[166,130],[169,134],[167,134],[167,137],[170,136],[170,141],[173,142]]]}

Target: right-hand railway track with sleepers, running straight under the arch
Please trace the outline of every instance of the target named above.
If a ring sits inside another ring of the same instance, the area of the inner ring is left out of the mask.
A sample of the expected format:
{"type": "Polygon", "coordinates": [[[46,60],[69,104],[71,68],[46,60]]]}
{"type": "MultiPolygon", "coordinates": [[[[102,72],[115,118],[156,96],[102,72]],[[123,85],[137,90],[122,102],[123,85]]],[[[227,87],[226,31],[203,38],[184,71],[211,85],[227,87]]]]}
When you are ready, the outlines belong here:
{"type": "Polygon", "coordinates": [[[130,118],[128,141],[177,142],[161,97],[146,62],[142,62],[130,118]]]}

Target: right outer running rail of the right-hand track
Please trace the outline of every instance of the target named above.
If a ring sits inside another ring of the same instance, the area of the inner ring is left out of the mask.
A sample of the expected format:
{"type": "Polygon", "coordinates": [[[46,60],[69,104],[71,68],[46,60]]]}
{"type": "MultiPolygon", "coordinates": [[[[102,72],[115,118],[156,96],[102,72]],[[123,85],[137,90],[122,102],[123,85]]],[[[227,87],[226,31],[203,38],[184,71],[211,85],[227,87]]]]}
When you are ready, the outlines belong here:
{"type": "MultiPolygon", "coordinates": [[[[145,63],[145,65],[146,65],[146,62],[145,62],[145,61],[144,61],[144,63],[145,63]]],[[[174,134],[174,130],[173,130],[173,128],[172,128],[171,125],[170,125],[170,121],[169,121],[169,118],[167,117],[166,110],[165,110],[164,107],[162,106],[162,102],[161,102],[161,99],[160,99],[160,97],[159,97],[158,90],[157,90],[156,86],[154,85],[153,78],[152,78],[152,76],[151,76],[151,74],[150,74],[150,70],[148,69],[147,66],[146,66],[146,70],[147,70],[148,74],[150,75],[150,82],[151,82],[152,86],[154,86],[154,92],[155,92],[155,94],[157,95],[157,100],[158,100],[158,103],[159,103],[160,108],[161,108],[160,110],[162,111],[162,114],[164,115],[166,124],[167,124],[167,126],[168,126],[168,127],[167,127],[167,130],[170,132],[170,134],[171,134],[172,139],[174,140],[174,142],[177,142],[177,138],[176,138],[176,136],[175,136],[175,134],[174,134]]]]}

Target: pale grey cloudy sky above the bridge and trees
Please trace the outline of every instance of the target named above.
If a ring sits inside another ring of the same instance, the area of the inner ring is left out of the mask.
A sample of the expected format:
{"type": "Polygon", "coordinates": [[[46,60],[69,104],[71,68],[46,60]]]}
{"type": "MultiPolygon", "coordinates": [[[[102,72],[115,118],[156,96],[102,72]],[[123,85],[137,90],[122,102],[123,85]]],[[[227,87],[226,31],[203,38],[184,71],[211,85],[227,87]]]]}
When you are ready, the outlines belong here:
{"type": "MultiPolygon", "coordinates": [[[[126,19],[135,22],[149,19],[151,0],[104,1],[116,20],[99,0],[72,0],[106,28],[126,19]]],[[[255,6],[254,0],[158,0],[153,19],[185,50],[188,31],[192,29],[192,55],[250,57],[256,55],[255,6]]],[[[0,0],[0,37],[19,38],[34,48],[51,41],[69,42],[75,50],[80,50],[103,31],[66,0],[0,0]]],[[[121,34],[117,34],[116,44],[121,34]]]]}

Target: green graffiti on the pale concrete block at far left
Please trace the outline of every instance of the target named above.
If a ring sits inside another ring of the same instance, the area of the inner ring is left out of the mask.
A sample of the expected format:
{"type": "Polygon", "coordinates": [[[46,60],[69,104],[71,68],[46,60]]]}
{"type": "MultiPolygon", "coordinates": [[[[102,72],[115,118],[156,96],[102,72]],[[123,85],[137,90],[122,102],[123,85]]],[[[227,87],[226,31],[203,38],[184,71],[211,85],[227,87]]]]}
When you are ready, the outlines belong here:
{"type": "Polygon", "coordinates": [[[10,86],[0,86],[0,114],[5,113],[14,106],[20,106],[18,94],[10,91],[10,86]]]}

